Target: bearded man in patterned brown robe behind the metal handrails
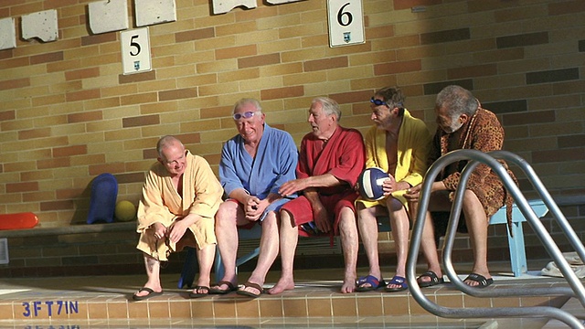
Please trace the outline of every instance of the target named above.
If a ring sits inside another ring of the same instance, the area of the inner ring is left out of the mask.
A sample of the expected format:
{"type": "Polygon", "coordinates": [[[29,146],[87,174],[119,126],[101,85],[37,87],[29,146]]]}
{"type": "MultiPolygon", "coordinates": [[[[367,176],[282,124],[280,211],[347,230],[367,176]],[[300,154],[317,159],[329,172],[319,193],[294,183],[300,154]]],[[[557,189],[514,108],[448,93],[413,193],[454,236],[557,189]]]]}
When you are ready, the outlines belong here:
{"type": "MultiPolygon", "coordinates": [[[[435,102],[437,133],[433,139],[430,161],[457,149],[482,152],[501,150],[504,129],[491,111],[482,108],[469,90],[459,86],[445,87],[435,102]]],[[[449,212],[467,161],[446,166],[431,186],[429,213],[422,232],[421,249],[428,262],[428,271],[420,275],[420,287],[441,283],[442,273],[435,243],[435,227],[431,211],[449,212]]],[[[508,170],[508,173],[514,175],[508,170]]],[[[516,180],[516,178],[514,178],[516,180]]],[[[405,196],[418,200],[420,186],[410,188],[405,196]]],[[[492,168],[479,164],[470,175],[463,195],[463,218],[473,249],[472,273],[464,280],[470,286],[484,288],[493,283],[487,267],[487,227],[491,218],[504,205],[511,209],[512,198],[492,168]]],[[[511,214],[508,213],[508,220],[511,214]]],[[[462,219],[463,220],[463,219],[462,219]]]]}

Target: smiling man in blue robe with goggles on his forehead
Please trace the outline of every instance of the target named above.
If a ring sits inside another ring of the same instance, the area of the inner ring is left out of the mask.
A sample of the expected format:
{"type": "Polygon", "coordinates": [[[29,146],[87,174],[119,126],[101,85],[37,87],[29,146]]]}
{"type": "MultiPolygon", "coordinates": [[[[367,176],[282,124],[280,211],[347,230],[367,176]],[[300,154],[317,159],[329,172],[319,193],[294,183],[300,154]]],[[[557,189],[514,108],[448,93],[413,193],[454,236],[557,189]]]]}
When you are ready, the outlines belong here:
{"type": "Polygon", "coordinates": [[[210,293],[238,290],[236,257],[238,228],[262,226],[260,255],[256,269],[238,290],[239,294],[258,297],[266,274],[279,253],[279,210],[290,197],[278,190],[295,178],[298,151],[293,137],[264,122],[266,114],[253,99],[242,99],[233,111],[239,134],[223,145],[219,163],[219,181],[228,199],[216,214],[218,248],[225,268],[223,278],[210,293]]]}

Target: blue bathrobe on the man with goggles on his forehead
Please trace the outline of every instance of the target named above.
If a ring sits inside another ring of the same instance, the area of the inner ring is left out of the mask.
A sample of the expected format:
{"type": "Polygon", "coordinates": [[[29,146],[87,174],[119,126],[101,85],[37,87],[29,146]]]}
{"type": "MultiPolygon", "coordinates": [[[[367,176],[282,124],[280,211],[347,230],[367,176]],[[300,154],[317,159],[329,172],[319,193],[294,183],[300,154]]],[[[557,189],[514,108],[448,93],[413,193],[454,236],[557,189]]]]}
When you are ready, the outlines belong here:
{"type": "MultiPolygon", "coordinates": [[[[283,183],[296,178],[298,158],[291,134],[264,123],[264,133],[255,159],[246,152],[244,139],[239,134],[224,143],[219,162],[219,181],[227,196],[243,188],[250,196],[265,199],[271,193],[278,194],[283,183]]],[[[269,211],[279,211],[293,197],[287,196],[272,202],[260,220],[269,211]]]]}

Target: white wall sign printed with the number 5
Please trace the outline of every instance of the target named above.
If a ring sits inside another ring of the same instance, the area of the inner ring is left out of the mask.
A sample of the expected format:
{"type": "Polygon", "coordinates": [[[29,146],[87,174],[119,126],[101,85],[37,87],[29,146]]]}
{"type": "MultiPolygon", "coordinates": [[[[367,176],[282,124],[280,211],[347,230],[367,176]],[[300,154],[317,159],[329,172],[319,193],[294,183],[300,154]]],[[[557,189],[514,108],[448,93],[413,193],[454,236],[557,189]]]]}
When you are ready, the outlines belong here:
{"type": "Polygon", "coordinates": [[[139,73],[152,69],[148,27],[122,31],[120,40],[122,42],[123,74],[139,73]]]}

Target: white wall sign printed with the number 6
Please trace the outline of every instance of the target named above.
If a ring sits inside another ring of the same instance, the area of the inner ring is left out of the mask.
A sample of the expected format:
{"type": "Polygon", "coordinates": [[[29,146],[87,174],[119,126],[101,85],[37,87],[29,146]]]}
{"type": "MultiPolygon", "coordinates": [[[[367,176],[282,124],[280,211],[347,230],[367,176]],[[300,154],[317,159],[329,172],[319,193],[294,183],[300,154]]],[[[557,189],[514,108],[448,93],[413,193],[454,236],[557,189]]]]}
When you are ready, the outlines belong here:
{"type": "Polygon", "coordinates": [[[327,15],[329,47],[366,42],[362,0],[327,0],[327,15]]]}

